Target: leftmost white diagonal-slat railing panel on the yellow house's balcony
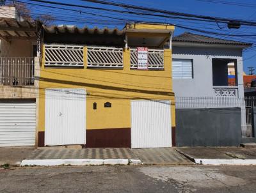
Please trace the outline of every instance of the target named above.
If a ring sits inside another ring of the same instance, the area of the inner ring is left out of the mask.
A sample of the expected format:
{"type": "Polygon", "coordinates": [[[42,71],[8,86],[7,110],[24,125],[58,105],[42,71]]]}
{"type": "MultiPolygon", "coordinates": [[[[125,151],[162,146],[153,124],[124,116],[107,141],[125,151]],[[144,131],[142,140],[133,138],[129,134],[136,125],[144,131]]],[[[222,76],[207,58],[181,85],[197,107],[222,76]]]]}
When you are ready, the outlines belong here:
{"type": "Polygon", "coordinates": [[[83,46],[45,45],[45,66],[83,66],[83,46]]]}

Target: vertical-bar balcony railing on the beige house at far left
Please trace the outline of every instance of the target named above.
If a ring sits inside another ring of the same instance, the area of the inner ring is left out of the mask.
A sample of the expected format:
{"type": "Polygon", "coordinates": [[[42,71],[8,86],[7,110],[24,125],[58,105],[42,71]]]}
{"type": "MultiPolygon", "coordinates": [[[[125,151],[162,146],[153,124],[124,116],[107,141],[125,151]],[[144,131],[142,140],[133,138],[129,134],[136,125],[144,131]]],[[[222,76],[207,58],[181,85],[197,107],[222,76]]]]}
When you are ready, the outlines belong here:
{"type": "Polygon", "coordinates": [[[34,58],[0,58],[0,85],[29,86],[34,81],[34,58]]]}

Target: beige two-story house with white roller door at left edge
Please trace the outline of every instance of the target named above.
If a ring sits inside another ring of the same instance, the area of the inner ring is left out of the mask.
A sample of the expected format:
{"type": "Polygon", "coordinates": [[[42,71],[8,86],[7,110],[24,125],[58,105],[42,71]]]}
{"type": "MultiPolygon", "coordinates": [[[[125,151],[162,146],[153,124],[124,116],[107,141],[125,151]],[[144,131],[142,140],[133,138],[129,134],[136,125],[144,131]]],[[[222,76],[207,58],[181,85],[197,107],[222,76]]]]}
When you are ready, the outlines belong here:
{"type": "MultiPolygon", "coordinates": [[[[0,15],[0,146],[34,146],[36,139],[36,22],[2,6],[0,15]]],[[[37,68],[38,69],[38,68],[37,68]]]]}

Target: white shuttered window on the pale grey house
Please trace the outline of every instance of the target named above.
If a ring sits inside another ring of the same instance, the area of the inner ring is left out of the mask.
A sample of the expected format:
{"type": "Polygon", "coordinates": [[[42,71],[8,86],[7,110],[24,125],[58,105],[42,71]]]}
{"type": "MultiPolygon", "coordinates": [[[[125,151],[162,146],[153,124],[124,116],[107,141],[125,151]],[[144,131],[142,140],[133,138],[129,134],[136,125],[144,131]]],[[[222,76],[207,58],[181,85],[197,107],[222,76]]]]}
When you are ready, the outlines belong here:
{"type": "Polygon", "coordinates": [[[193,59],[172,60],[173,79],[193,79],[193,59]]]}

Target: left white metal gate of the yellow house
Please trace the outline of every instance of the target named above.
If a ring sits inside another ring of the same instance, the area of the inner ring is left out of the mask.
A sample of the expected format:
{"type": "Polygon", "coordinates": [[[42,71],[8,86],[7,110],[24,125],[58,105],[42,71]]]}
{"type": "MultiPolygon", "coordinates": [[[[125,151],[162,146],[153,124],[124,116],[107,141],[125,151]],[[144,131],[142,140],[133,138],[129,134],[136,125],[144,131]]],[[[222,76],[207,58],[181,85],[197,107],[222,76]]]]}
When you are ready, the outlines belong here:
{"type": "Polygon", "coordinates": [[[45,90],[45,146],[85,144],[84,89],[45,90]]]}

